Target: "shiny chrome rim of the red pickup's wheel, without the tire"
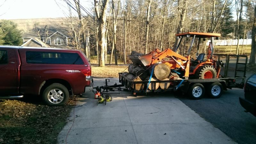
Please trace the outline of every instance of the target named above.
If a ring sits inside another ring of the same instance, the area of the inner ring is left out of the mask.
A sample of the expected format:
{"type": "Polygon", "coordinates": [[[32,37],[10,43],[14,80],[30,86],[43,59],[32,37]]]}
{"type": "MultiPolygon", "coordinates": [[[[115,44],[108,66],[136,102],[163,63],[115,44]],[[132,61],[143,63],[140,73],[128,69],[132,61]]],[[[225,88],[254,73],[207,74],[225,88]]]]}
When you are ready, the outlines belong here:
{"type": "Polygon", "coordinates": [[[48,100],[53,104],[59,104],[64,99],[63,92],[59,89],[53,89],[48,93],[48,100]]]}

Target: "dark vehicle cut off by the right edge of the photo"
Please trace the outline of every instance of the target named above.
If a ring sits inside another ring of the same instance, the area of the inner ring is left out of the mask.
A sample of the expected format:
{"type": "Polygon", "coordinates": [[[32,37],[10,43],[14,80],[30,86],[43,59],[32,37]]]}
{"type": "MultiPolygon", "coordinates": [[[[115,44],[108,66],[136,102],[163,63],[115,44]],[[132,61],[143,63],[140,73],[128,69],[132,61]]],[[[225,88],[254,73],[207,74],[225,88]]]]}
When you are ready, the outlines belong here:
{"type": "Polygon", "coordinates": [[[246,112],[256,116],[256,74],[247,79],[244,85],[244,98],[239,97],[239,102],[246,112]]]}

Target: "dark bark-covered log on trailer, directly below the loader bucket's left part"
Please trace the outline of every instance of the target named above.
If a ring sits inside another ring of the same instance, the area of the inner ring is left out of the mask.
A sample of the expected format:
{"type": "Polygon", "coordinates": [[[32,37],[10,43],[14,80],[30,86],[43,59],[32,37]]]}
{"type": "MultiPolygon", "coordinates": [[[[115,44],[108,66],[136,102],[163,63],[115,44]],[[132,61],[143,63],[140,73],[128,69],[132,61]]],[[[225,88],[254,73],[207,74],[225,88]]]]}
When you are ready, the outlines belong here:
{"type": "Polygon", "coordinates": [[[128,71],[135,76],[139,76],[141,80],[144,80],[148,74],[145,72],[145,67],[144,66],[139,66],[138,64],[132,63],[128,67],[128,71]]]}

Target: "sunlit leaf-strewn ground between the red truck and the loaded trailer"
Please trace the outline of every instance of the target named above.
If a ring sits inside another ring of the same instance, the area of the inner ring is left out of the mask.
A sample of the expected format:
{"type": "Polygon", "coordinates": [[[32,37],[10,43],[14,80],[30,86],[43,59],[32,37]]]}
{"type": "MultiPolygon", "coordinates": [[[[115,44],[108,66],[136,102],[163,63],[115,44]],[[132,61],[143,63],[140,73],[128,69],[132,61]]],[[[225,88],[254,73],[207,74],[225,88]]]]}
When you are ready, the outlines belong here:
{"type": "Polygon", "coordinates": [[[93,77],[119,77],[118,73],[123,71],[128,71],[128,65],[121,65],[121,66],[109,65],[105,67],[92,66],[93,77]]]}

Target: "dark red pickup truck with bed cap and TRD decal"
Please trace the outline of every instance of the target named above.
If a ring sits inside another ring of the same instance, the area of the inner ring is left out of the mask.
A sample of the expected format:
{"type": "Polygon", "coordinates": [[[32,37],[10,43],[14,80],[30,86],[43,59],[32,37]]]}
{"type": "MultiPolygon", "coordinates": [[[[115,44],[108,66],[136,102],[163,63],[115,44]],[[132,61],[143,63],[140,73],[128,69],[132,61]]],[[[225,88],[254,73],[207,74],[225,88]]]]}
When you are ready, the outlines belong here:
{"type": "Polygon", "coordinates": [[[93,89],[92,68],[78,50],[0,46],[0,99],[41,95],[48,105],[93,89]]]}

